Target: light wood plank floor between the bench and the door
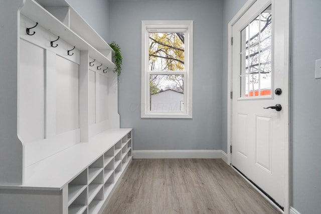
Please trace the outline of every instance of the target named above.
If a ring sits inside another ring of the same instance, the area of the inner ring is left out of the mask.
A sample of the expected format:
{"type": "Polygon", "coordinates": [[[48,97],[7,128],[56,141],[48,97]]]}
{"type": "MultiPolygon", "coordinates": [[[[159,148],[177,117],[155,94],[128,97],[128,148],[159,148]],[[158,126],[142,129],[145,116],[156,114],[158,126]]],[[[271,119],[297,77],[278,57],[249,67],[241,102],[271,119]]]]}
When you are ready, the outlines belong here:
{"type": "Polygon", "coordinates": [[[279,212],[221,159],[134,159],[103,213],[279,212]]]}

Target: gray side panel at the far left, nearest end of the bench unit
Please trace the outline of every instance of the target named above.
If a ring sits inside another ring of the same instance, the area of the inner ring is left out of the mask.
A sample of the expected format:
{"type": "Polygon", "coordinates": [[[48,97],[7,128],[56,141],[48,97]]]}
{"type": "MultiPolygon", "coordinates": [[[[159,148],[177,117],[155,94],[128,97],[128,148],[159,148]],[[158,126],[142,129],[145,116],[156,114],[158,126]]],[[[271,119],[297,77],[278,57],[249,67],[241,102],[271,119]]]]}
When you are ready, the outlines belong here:
{"type": "Polygon", "coordinates": [[[19,127],[20,15],[25,1],[2,2],[0,7],[0,184],[23,184],[24,147],[17,136],[19,127]],[[7,4],[8,3],[8,4],[7,4]],[[3,22],[9,20],[10,22],[3,22]]]}

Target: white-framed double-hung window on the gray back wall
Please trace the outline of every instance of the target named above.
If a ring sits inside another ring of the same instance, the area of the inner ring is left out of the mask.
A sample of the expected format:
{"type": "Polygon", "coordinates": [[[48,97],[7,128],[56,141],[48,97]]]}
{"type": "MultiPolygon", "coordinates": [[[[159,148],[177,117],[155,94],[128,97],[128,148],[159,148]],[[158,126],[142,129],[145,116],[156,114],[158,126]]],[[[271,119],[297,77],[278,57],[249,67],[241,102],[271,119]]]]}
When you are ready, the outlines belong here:
{"type": "Polygon", "coordinates": [[[141,117],[192,118],[193,21],[142,21],[141,117]]]}

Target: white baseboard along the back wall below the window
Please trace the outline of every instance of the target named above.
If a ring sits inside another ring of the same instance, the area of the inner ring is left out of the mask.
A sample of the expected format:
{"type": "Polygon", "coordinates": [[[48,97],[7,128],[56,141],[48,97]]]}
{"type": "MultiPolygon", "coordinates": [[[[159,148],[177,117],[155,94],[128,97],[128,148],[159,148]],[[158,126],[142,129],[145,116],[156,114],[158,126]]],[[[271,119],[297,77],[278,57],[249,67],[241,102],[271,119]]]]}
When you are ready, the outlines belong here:
{"type": "Polygon", "coordinates": [[[222,150],[133,150],[132,154],[133,159],[222,158],[222,150]]]}

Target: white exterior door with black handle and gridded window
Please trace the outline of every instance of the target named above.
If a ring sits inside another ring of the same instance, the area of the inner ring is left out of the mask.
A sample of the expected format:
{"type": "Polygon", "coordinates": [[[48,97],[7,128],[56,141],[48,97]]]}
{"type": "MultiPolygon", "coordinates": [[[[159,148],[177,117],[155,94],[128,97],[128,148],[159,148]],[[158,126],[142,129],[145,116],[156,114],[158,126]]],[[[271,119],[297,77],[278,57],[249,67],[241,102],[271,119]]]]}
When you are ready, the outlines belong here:
{"type": "Polygon", "coordinates": [[[257,0],[233,25],[232,165],[284,207],[288,47],[280,2],[257,0]]]}

